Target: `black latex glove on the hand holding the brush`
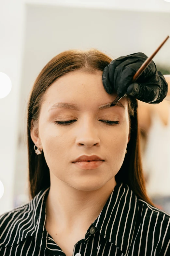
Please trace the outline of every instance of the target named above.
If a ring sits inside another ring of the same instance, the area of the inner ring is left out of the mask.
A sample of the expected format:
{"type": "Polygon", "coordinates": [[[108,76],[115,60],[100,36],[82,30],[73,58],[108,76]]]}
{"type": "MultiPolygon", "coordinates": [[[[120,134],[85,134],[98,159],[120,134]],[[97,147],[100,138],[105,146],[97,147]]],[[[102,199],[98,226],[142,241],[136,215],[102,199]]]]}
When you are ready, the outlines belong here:
{"type": "Polygon", "coordinates": [[[153,60],[132,83],[133,76],[148,57],[142,53],[133,53],[112,60],[103,70],[102,82],[108,94],[116,91],[118,96],[127,94],[136,99],[158,104],[166,97],[168,84],[153,60]]]}

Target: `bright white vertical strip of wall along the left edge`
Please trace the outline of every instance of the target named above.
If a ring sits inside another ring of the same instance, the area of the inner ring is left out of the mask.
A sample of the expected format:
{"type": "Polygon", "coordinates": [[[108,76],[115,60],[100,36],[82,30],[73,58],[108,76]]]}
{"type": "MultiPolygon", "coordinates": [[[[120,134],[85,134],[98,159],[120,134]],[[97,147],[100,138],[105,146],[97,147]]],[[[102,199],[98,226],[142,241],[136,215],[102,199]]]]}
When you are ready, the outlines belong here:
{"type": "Polygon", "coordinates": [[[0,36],[0,71],[6,73],[12,82],[10,94],[0,99],[0,180],[4,184],[1,214],[13,206],[24,37],[24,6],[20,0],[1,1],[0,36]]]}

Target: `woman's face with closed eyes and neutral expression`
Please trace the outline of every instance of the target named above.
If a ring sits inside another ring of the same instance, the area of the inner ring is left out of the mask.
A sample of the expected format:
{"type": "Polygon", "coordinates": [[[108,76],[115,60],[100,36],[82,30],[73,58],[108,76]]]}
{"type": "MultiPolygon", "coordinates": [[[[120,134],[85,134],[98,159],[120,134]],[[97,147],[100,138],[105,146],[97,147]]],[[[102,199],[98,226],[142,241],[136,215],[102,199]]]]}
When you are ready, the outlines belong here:
{"type": "Polygon", "coordinates": [[[130,139],[128,103],[98,110],[117,94],[106,93],[102,71],[88,74],[70,72],[56,80],[46,91],[39,117],[39,137],[31,138],[44,151],[50,174],[78,190],[96,190],[120,170],[130,139]],[[77,105],[78,110],[53,107],[58,103],[77,105]],[[68,125],[56,121],[74,120],[68,125]],[[118,121],[109,125],[107,121],[118,121]],[[97,155],[104,162],[96,169],[83,170],[75,163],[81,155],[97,155]]]}

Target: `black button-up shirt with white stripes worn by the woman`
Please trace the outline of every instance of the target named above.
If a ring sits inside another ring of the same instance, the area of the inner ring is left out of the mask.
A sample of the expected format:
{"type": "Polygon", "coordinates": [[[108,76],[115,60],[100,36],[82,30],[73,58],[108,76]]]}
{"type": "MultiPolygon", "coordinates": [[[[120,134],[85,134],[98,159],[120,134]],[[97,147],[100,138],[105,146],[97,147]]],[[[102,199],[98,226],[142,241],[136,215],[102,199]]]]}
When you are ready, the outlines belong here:
{"type": "MultiPolygon", "coordinates": [[[[64,255],[45,229],[49,188],[0,216],[1,256],[64,255]]],[[[73,256],[170,256],[170,215],[117,184],[73,256]]]]}

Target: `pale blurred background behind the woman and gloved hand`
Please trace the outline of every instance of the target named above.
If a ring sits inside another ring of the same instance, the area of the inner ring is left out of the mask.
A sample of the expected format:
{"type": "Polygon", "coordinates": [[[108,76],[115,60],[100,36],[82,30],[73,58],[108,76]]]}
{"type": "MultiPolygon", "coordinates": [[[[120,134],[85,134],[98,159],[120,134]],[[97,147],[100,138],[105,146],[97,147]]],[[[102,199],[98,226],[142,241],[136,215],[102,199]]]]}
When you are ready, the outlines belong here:
{"type": "MultiPolygon", "coordinates": [[[[136,52],[150,56],[170,36],[170,2],[6,0],[0,3],[0,31],[0,72],[11,81],[11,91],[0,98],[2,214],[30,200],[26,108],[41,69],[55,55],[76,48],[97,48],[112,59],[136,52]]],[[[153,61],[170,74],[170,39],[153,61]]],[[[138,103],[148,194],[170,213],[170,101],[138,103]]]]}

